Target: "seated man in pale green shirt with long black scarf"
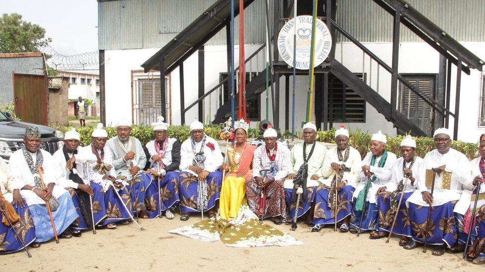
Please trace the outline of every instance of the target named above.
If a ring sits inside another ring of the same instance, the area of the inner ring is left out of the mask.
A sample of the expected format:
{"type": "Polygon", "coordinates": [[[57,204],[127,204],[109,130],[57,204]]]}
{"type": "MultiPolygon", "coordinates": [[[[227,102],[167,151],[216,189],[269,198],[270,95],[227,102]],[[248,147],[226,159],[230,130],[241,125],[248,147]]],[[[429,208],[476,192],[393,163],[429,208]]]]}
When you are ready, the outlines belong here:
{"type": "Polygon", "coordinates": [[[286,205],[290,207],[286,224],[291,224],[295,217],[297,189],[301,187],[303,194],[300,197],[297,217],[307,214],[307,223],[312,223],[313,208],[315,208],[315,189],[320,184],[321,168],[326,148],[317,143],[317,126],[308,122],[303,125],[303,142],[291,149],[291,167],[288,179],[284,182],[286,190],[286,205]]]}

